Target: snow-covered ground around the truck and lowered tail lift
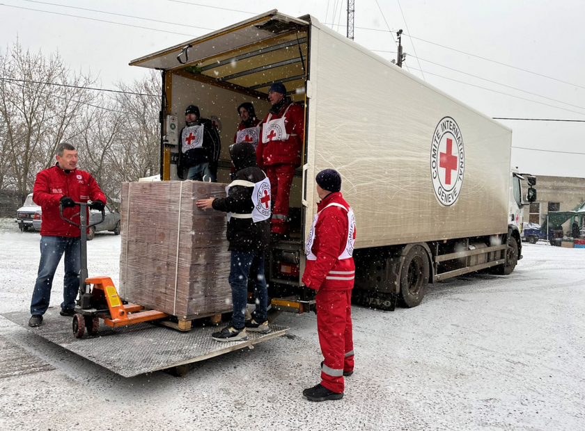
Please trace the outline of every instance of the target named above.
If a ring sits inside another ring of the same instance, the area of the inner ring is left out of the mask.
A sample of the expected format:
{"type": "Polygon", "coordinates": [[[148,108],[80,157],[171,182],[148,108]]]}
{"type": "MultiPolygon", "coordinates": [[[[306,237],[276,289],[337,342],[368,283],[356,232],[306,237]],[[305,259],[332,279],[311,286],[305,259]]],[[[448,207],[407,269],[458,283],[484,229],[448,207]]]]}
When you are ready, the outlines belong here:
{"type": "MultiPolygon", "coordinates": [[[[27,310],[39,235],[0,220],[0,313],[27,310]]],[[[118,281],[120,237],[88,243],[90,275],[118,281]]],[[[52,306],[61,302],[62,266],[52,306]]],[[[508,277],[430,285],[394,312],[354,307],[345,398],[312,403],[314,314],[288,337],[123,378],[0,317],[1,430],[585,430],[585,250],[524,245],[508,277]]]]}

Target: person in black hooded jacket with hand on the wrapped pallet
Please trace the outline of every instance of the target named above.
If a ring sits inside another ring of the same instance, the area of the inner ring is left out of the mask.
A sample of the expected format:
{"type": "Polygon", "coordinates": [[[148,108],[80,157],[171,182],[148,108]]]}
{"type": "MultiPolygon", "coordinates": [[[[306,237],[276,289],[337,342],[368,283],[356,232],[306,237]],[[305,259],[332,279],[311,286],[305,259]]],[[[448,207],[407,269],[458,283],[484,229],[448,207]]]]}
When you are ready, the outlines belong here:
{"type": "Polygon", "coordinates": [[[235,178],[227,187],[227,197],[201,199],[199,209],[216,209],[228,213],[227,238],[231,250],[230,275],[233,314],[231,324],[212,338],[216,341],[242,341],[251,332],[270,332],[267,286],[264,277],[265,252],[270,244],[270,181],[256,164],[251,143],[230,145],[235,178]],[[248,302],[248,278],[254,287],[256,310],[245,319],[248,302]]]}

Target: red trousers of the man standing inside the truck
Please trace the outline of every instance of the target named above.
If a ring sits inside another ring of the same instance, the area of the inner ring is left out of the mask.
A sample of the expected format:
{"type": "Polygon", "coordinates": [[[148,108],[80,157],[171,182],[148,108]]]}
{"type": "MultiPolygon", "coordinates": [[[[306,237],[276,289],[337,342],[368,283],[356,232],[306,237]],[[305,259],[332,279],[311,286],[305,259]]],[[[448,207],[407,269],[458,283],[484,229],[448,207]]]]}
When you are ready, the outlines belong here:
{"type": "Polygon", "coordinates": [[[295,176],[295,165],[281,163],[279,165],[266,166],[266,176],[270,180],[272,190],[270,199],[272,208],[272,231],[276,234],[288,234],[288,200],[290,199],[290,186],[292,177],[295,176]]]}

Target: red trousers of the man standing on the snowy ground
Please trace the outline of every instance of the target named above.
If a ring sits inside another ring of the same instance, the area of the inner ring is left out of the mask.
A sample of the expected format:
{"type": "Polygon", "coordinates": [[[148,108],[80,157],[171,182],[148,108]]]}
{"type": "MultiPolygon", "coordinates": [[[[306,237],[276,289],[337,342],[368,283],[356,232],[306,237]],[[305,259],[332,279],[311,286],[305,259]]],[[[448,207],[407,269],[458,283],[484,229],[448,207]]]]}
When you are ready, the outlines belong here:
{"type": "Polygon", "coordinates": [[[353,371],[352,291],[318,291],[317,330],[323,354],[321,384],[342,393],[343,371],[353,371]]]}

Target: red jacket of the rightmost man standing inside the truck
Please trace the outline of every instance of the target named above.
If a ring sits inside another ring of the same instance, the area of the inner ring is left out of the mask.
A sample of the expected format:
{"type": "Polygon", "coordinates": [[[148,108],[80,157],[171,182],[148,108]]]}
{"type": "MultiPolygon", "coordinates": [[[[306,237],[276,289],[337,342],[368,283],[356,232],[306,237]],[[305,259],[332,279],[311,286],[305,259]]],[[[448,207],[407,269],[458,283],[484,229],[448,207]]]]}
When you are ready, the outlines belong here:
{"type": "MultiPolygon", "coordinates": [[[[301,164],[301,149],[304,143],[304,109],[297,104],[284,104],[278,114],[272,113],[270,120],[281,118],[286,108],[288,108],[285,115],[286,133],[289,135],[295,134],[296,136],[289,136],[284,141],[271,140],[267,144],[262,143],[262,139],[260,139],[260,143],[256,148],[256,158],[258,158],[260,169],[279,163],[290,163],[295,166],[301,164]],[[290,108],[288,108],[289,105],[290,108]]],[[[262,123],[263,127],[265,127],[269,115],[270,113],[266,115],[262,123]]]]}

